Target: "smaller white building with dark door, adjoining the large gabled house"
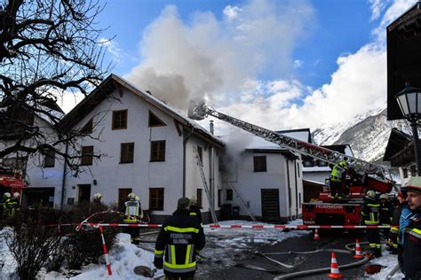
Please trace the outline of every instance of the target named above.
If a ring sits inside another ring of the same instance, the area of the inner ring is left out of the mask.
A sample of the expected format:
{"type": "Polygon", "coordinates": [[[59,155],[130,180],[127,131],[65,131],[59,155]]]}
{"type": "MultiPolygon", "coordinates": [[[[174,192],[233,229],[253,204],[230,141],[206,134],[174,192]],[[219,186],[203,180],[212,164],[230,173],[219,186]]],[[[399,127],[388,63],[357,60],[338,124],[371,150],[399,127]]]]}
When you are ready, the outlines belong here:
{"type": "MultiPolygon", "coordinates": [[[[309,136],[305,129],[279,133],[306,142],[309,136]]],[[[236,171],[231,172],[228,181],[234,184],[251,214],[261,220],[277,222],[289,221],[302,214],[303,168],[299,154],[254,136],[235,166],[236,171]]],[[[239,207],[239,215],[248,215],[229,188],[226,189],[226,203],[233,208],[239,207]]]]}

